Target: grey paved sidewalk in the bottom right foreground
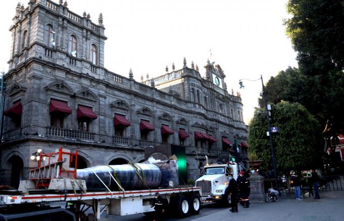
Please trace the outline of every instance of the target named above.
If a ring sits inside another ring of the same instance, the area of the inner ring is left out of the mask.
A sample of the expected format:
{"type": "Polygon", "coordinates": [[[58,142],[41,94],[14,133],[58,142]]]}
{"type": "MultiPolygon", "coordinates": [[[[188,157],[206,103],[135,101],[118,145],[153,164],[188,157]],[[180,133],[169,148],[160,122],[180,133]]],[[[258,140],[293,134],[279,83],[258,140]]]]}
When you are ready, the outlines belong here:
{"type": "Polygon", "coordinates": [[[320,197],[320,200],[296,200],[293,195],[286,195],[281,196],[279,202],[252,202],[249,208],[239,205],[239,212],[236,213],[224,209],[192,220],[344,220],[344,191],[320,192],[320,197]]]}

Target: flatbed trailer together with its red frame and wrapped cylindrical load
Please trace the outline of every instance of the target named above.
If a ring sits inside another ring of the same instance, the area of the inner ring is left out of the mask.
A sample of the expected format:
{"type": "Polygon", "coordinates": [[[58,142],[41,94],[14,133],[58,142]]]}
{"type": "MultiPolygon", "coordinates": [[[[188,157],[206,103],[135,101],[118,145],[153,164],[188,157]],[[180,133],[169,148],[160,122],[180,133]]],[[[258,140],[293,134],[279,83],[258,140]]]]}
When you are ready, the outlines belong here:
{"type": "Polygon", "coordinates": [[[169,170],[178,169],[174,160],[80,170],[76,165],[77,151],[60,148],[41,153],[29,180],[21,181],[16,190],[0,190],[0,220],[101,220],[105,211],[120,216],[149,213],[154,211],[150,205],[156,192],[167,199],[173,214],[185,217],[201,209],[201,187],[178,186],[171,181],[176,174],[169,170]],[[56,202],[65,208],[54,206],[56,202]]]}

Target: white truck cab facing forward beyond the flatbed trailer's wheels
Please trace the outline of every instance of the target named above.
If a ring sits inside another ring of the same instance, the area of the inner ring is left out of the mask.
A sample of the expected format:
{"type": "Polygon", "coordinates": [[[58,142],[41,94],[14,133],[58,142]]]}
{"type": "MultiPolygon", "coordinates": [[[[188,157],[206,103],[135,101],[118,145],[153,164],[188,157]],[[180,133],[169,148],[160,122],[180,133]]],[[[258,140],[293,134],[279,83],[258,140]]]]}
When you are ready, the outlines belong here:
{"type": "Polygon", "coordinates": [[[210,164],[204,166],[204,175],[196,180],[196,187],[202,188],[203,202],[222,201],[226,206],[230,205],[228,193],[228,175],[232,173],[236,180],[239,174],[239,166],[234,164],[210,164]]]}

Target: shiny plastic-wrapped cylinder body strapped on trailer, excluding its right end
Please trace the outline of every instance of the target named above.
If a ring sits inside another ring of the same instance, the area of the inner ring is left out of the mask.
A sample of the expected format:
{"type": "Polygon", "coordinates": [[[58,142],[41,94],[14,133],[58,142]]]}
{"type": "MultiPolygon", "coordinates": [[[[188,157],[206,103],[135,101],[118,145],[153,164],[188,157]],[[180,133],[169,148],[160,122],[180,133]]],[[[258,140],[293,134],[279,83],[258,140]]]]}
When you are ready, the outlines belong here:
{"type": "Polygon", "coordinates": [[[160,168],[151,163],[100,165],[77,169],[76,177],[79,180],[85,180],[88,190],[106,190],[104,184],[110,190],[118,190],[119,188],[109,172],[115,178],[118,178],[120,185],[126,190],[156,188],[159,187],[162,178],[160,168]],[[95,173],[99,176],[99,179],[95,173]],[[138,174],[140,174],[141,178],[138,174]]]}

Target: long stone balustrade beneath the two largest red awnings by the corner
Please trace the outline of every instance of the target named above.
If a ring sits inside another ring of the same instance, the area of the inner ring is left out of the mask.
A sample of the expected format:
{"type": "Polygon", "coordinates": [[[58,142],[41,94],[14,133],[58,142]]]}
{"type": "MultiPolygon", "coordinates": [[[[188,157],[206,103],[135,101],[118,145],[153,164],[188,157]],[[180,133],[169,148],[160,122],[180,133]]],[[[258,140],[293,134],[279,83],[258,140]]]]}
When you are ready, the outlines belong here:
{"type": "Polygon", "coordinates": [[[70,138],[70,139],[80,139],[80,140],[94,140],[95,133],[82,131],[82,130],[73,130],[73,129],[64,129],[54,126],[47,127],[46,135],[50,137],[58,138],[70,138]]]}

